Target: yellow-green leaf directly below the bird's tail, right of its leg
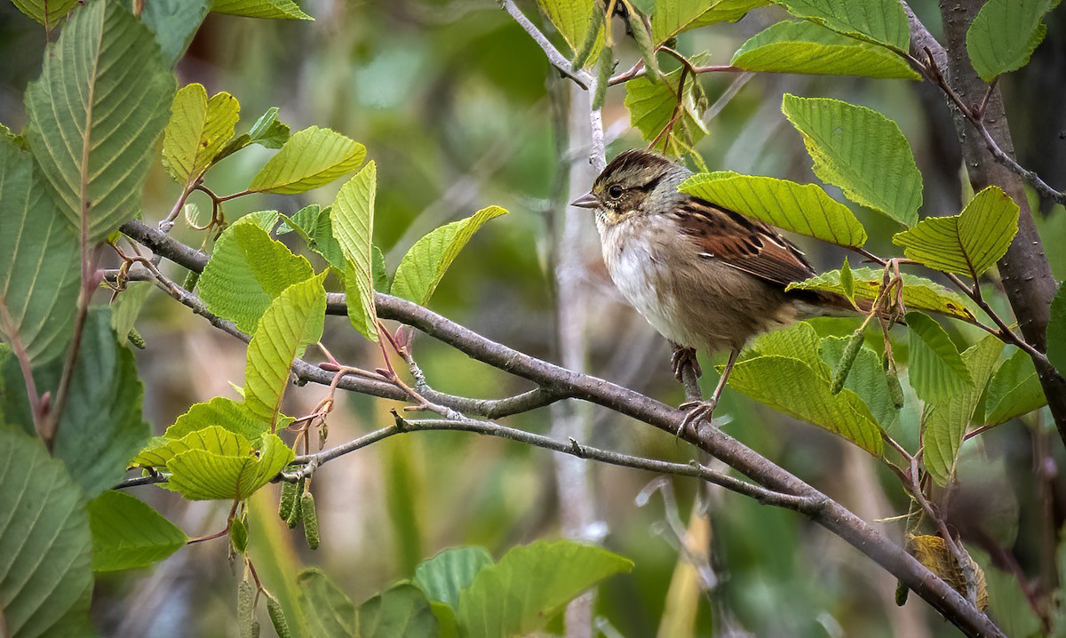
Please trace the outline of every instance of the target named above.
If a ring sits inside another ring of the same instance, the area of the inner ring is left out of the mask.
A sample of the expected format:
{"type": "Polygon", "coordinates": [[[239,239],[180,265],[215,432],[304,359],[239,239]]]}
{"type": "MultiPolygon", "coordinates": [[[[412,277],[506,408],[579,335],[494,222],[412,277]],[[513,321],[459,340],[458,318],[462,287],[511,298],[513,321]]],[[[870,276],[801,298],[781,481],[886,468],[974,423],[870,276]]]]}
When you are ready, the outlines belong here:
{"type": "MultiPolygon", "coordinates": [[[[815,361],[824,366],[821,358],[815,361]]],[[[789,356],[742,361],[729,376],[729,385],[747,397],[839,434],[879,457],[881,428],[870,409],[851,389],[830,393],[829,381],[805,362],[789,356]]]]}

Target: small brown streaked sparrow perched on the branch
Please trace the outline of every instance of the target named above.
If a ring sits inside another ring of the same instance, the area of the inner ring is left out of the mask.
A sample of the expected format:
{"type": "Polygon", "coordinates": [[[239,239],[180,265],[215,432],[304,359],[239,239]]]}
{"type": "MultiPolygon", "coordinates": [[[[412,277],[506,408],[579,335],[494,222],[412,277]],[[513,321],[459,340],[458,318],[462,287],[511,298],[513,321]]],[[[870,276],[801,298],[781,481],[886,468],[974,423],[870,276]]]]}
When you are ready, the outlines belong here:
{"type": "Polygon", "coordinates": [[[691,408],[682,428],[709,419],[737,356],[752,337],[801,319],[853,310],[821,291],[786,292],[814,275],[810,262],[773,227],[678,186],[692,172],[646,150],[626,150],[571,206],[596,211],[603,261],[623,297],[674,348],[674,373],[696,350],[729,352],[714,393],[691,408]]]}

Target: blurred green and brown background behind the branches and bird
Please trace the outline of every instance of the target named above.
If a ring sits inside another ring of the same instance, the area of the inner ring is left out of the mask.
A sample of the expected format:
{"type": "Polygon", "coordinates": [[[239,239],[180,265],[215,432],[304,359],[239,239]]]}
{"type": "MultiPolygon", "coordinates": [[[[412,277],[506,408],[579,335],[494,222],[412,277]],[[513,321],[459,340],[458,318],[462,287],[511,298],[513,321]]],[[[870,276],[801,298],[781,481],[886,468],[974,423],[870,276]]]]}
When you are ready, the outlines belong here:
{"type": "MultiPolygon", "coordinates": [[[[562,45],[533,2],[519,4],[562,45]]],[[[586,369],[679,403],[682,393],[669,373],[666,344],[614,291],[598,255],[592,218],[580,221],[577,236],[568,236],[576,241],[556,239],[566,195],[587,188],[568,181],[574,162],[583,163],[587,156],[568,149],[587,132],[566,130],[570,84],[549,68],[528,35],[491,0],[306,0],[302,5],[316,21],[210,15],[178,65],[181,83],[200,82],[209,94],[233,94],[242,111],[238,130],[276,106],[293,130],[326,126],[366,144],[378,166],[374,239],[390,270],[430,229],[488,205],[507,208],[511,214],[483,228],[453,265],[431,307],[489,338],[559,361],[553,264],[561,253],[576,256],[587,316],[587,325],[579,331],[587,347],[586,369]]],[[[935,3],[912,5],[938,33],[935,3]]],[[[757,10],[739,23],[682,35],[678,47],[687,53],[707,51],[709,64],[726,64],[744,39],[781,15],[775,9],[757,10]]],[[[1033,62],[1003,81],[1022,164],[1057,186],[1066,184],[1064,15],[1050,14],[1049,36],[1033,62]]],[[[639,54],[615,25],[624,43],[618,68],[624,69],[639,54]]],[[[0,3],[0,122],[15,130],[26,122],[21,95],[39,74],[44,46],[39,27],[10,3],[0,3]]],[[[902,80],[775,75],[738,80],[716,74],[699,81],[712,102],[736,91],[720,105],[709,121],[710,135],[697,145],[712,170],[815,181],[800,135],[780,113],[781,95],[838,97],[876,108],[900,123],[925,177],[922,214],[957,212],[964,180],[955,132],[932,87],[902,80]]],[[[609,157],[647,144],[629,127],[624,97],[624,87],[608,92],[603,122],[609,157]]],[[[259,147],[241,151],[213,169],[207,185],[217,193],[243,190],[271,153],[259,147]]],[[[254,210],[291,213],[310,203],[327,205],[339,186],[296,196],[243,197],[227,203],[225,212],[229,220],[254,210]]],[[[144,218],[158,221],[177,195],[157,162],[144,218]]],[[[192,201],[209,206],[199,196],[192,201]]],[[[872,237],[868,248],[892,254],[890,237],[897,228],[869,211],[857,213],[872,237]]],[[[1061,280],[1066,276],[1066,216],[1061,207],[1045,205],[1038,217],[1061,280]]],[[[189,228],[179,226],[175,234],[194,245],[203,242],[189,228]]],[[[840,266],[842,253],[801,243],[820,269],[840,266]]],[[[179,278],[182,274],[175,267],[171,272],[179,278]]],[[[852,320],[824,320],[817,328],[847,334],[855,325],[852,320]]],[[[138,354],[144,412],[157,433],[193,402],[236,397],[229,384],[242,383],[243,344],[158,292],[149,297],[138,328],[148,344],[138,354]]],[[[975,338],[958,326],[951,330],[959,345],[975,338]]],[[[905,356],[905,333],[894,336],[905,356]]],[[[343,318],[327,321],[324,340],[343,362],[381,365],[376,348],[343,318]]],[[[529,389],[424,336],[415,340],[414,352],[439,390],[502,397],[529,389]]],[[[713,370],[707,360],[704,369],[713,370]]],[[[706,390],[714,378],[712,371],[705,377],[706,390]]],[[[286,411],[306,413],[324,396],[323,387],[293,388],[286,411]]],[[[916,405],[917,399],[908,397],[893,432],[911,449],[916,405]]],[[[388,410],[397,406],[344,395],[329,419],[330,443],[388,425],[388,410]]],[[[717,416],[727,417],[724,427],[730,434],[860,516],[888,519],[906,512],[894,478],[842,441],[730,390],[717,416]]],[[[693,457],[692,449],[671,436],[616,414],[595,410],[589,418],[584,443],[680,462],[693,457]]],[[[998,593],[992,611],[1005,628],[1017,629],[1011,635],[1034,628],[1018,584],[1041,574],[1054,581],[1057,564],[1056,530],[1066,505],[1057,467],[1064,454],[1057,437],[1049,436],[1047,420],[1037,413],[970,445],[960,469],[964,487],[952,499],[953,524],[969,546],[986,552],[986,563],[1003,568],[988,576],[998,593]]],[[[552,429],[552,413],[539,410],[507,422],[546,433],[552,429]]],[[[558,538],[567,494],[556,489],[555,462],[554,454],[542,449],[465,433],[386,440],[330,462],[316,475],[323,539],[318,552],[306,548],[298,531],[279,525],[271,512],[275,495],[257,499],[252,529],[257,567],[268,587],[286,595],[285,583],[301,565],[322,565],[358,603],[410,577],[418,561],[445,547],[479,544],[499,557],[517,543],[558,538]]],[[[598,465],[588,470],[597,524],[587,531],[636,565],[632,574],[614,577],[599,590],[595,605],[605,636],[672,635],[664,627],[685,600],[698,607],[700,636],[956,634],[917,597],[897,607],[894,580],[842,541],[798,514],[733,494],[712,493],[709,499],[711,525],[704,549],[712,558],[702,573],[715,586],[690,596],[678,593],[671,589],[678,564],[677,528],[688,525],[698,487],[672,479],[657,483],[661,489],[653,492],[649,484],[656,477],[646,473],[598,465]],[[642,491],[646,498],[639,499],[642,491]]],[[[134,493],[190,536],[222,528],[228,511],[228,504],[189,503],[155,488],[134,493]]],[[[901,537],[900,523],[883,525],[901,537]]],[[[151,571],[104,576],[96,597],[106,636],[237,632],[236,578],[224,540],[190,546],[151,571]]]]}

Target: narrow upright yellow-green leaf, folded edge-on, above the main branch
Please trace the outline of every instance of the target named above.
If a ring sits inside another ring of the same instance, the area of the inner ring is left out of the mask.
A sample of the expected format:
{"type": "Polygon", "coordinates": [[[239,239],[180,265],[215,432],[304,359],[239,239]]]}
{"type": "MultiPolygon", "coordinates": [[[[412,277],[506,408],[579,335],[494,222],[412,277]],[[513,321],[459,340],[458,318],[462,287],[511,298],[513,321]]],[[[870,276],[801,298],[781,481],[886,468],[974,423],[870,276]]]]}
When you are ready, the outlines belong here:
{"type": "Polygon", "coordinates": [[[348,318],[371,341],[377,340],[372,243],[376,193],[377,168],[370,162],[340,188],[329,214],[333,235],[346,261],[348,318]]]}

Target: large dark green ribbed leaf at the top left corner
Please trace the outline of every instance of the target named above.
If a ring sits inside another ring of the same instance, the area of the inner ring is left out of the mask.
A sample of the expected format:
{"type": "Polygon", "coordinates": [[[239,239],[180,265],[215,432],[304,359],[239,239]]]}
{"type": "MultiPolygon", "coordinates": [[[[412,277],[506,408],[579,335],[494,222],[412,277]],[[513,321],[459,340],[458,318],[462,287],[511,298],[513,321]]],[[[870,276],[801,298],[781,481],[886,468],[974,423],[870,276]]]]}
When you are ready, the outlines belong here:
{"type": "Polygon", "coordinates": [[[96,243],[141,208],[174,95],[151,32],[118,2],[79,10],[26,91],[27,139],[67,220],[96,243]]]}

